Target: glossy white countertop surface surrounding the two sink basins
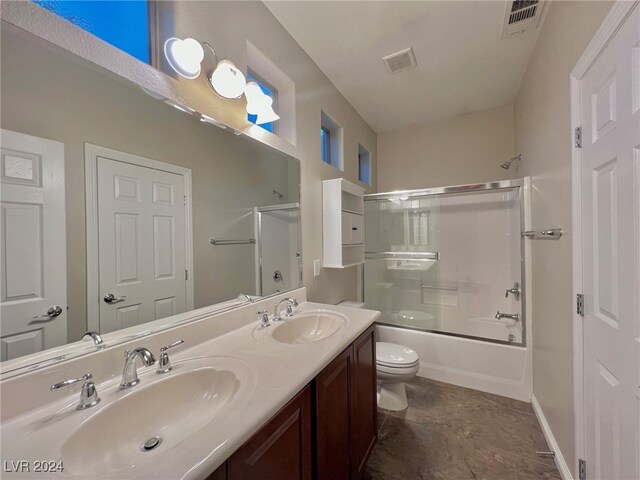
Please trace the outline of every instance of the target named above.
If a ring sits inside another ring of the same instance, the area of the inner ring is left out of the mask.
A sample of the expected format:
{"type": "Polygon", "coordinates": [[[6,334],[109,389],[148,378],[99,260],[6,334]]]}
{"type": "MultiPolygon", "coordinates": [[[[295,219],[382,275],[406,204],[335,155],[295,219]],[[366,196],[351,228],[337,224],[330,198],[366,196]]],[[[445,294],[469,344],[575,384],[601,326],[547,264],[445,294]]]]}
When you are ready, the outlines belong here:
{"type": "MultiPolygon", "coordinates": [[[[251,314],[255,314],[254,306],[251,314]]],[[[296,393],[307,385],[326,365],[364,332],[380,315],[379,312],[334,305],[304,302],[297,309],[305,312],[325,309],[348,318],[346,326],[321,341],[307,344],[286,344],[270,338],[275,326],[256,329],[257,321],[244,322],[239,328],[221,333],[191,348],[172,352],[171,361],[176,368],[167,376],[179,374],[181,361],[197,357],[227,357],[247,366],[247,390],[240,389],[232,408],[225,415],[216,417],[209,424],[190,434],[177,445],[145,452],[148,459],[129,470],[100,478],[148,478],[148,479],[202,479],[212,473],[224,461],[255,434],[296,393]]],[[[232,315],[234,312],[224,315],[232,315]]],[[[245,314],[246,317],[246,314],[245,314]]],[[[295,315],[293,317],[295,320],[295,315]]],[[[182,328],[189,328],[185,325],[182,328]]],[[[193,327],[192,327],[193,328],[193,327]]],[[[182,335],[179,329],[173,336],[182,335]]],[[[193,342],[195,343],[195,342],[193,342]]],[[[118,365],[121,368],[121,365],[118,365]]],[[[142,389],[154,378],[154,367],[139,368],[142,389]],[[146,381],[146,382],[145,382],[146,381]]],[[[48,379],[41,380],[51,383],[48,379]]],[[[113,404],[119,395],[118,378],[98,383],[102,402],[84,411],[75,410],[77,393],[54,400],[35,410],[24,412],[2,423],[2,460],[60,460],[60,445],[64,438],[101,409],[113,404]],[[60,420],[59,420],[60,419],[60,420]],[[65,426],[67,425],[67,426],[65,426]],[[34,433],[38,442],[34,442],[34,433]],[[47,442],[47,435],[51,441],[47,442]],[[29,443],[43,443],[35,448],[29,443]],[[27,453],[28,452],[28,456],[27,453]]],[[[75,392],[75,390],[74,390],[75,392]]],[[[125,392],[126,393],[126,392],[125,392]]],[[[159,399],[161,401],[162,399],[159,399]]],[[[100,432],[95,432],[99,438],[100,432]]],[[[43,474],[3,473],[3,478],[43,478],[43,474]]],[[[49,473],[45,478],[78,478],[65,473],[49,473]]]]}

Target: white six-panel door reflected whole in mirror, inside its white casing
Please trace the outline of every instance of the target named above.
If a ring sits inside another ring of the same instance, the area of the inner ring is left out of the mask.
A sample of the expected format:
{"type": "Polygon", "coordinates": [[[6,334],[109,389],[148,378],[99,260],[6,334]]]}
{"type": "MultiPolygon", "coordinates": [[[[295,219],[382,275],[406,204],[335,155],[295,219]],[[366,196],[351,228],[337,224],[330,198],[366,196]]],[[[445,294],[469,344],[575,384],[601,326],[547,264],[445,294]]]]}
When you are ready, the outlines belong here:
{"type": "Polygon", "coordinates": [[[100,333],[187,310],[182,175],[97,158],[100,333]]]}

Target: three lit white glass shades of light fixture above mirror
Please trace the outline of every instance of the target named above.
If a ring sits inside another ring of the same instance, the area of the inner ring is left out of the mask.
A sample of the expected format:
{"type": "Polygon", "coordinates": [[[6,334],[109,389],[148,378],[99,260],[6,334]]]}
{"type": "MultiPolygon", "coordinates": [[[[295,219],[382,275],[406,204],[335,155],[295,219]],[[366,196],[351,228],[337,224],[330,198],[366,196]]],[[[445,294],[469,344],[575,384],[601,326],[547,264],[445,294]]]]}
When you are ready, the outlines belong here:
{"type": "MultiPolygon", "coordinates": [[[[193,80],[202,73],[204,47],[208,47],[215,57],[216,67],[207,74],[211,88],[221,97],[236,99],[242,94],[247,97],[247,113],[256,115],[256,124],[274,122],[280,117],[273,110],[273,99],[265,95],[256,82],[249,82],[230,60],[218,61],[211,45],[194,38],[169,38],[164,43],[164,54],[171,68],[180,76],[193,80]]],[[[210,118],[210,117],[209,117],[210,118]]],[[[208,120],[203,120],[208,121],[208,120]]],[[[213,123],[213,122],[209,122],[213,123]]]]}

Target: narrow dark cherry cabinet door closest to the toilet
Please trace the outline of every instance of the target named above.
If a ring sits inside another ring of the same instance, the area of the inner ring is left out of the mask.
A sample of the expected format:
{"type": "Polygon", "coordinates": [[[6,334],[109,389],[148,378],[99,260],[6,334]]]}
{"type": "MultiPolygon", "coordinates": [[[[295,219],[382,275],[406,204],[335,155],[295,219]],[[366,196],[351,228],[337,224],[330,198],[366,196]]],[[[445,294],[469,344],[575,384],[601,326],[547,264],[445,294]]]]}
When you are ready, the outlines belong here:
{"type": "Polygon", "coordinates": [[[373,326],[353,343],[351,384],[351,466],[355,480],[362,477],[378,438],[376,339],[373,326]]]}

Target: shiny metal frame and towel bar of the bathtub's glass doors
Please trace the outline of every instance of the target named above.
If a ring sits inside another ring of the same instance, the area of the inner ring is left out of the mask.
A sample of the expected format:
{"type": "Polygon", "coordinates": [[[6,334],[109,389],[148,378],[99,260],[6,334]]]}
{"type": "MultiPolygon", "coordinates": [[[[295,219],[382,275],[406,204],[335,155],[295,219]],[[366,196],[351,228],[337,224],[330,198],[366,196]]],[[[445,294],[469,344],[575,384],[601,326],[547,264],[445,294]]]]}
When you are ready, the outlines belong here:
{"type": "MultiPolygon", "coordinates": [[[[500,345],[509,345],[513,347],[521,347],[527,348],[527,282],[526,282],[526,262],[525,262],[525,237],[522,235],[522,232],[525,231],[525,197],[523,195],[523,189],[526,186],[525,179],[517,178],[512,180],[499,180],[495,182],[486,182],[486,183],[469,183],[465,185],[451,185],[446,187],[429,187],[429,188],[420,188],[415,190],[395,190],[392,192],[381,192],[381,193],[370,193],[364,196],[364,201],[373,201],[373,200],[390,200],[392,198],[398,197],[406,197],[403,200],[410,200],[412,198],[423,198],[432,195],[454,195],[454,194],[474,194],[474,193],[483,193],[489,191],[498,191],[498,190],[515,190],[518,192],[518,200],[520,202],[520,325],[522,328],[522,339],[520,342],[509,342],[508,340],[497,340],[493,338],[486,337],[477,337],[474,335],[465,335],[462,333],[453,333],[453,332],[445,332],[440,330],[423,330],[417,329],[413,327],[408,327],[405,325],[395,325],[390,323],[383,323],[376,321],[379,325],[385,325],[394,328],[402,328],[406,330],[416,330],[420,332],[428,332],[428,333],[436,333],[440,335],[448,335],[451,337],[458,338],[466,338],[469,340],[477,340],[488,343],[497,343],[500,345]]],[[[366,211],[366,209],[365,209],[366,211]]],[[[371,255],[376,255],[376,258],[384,258],[380,256],[380,252],[367,252],[365,251],[365,261],[367,259],[367,254],[369,254],[369,259],[373,259],[371,255]]],[[[395,258],[398,258],[398,255],[405,254],[409,258],[411,254],[413,255],[433,255],[428,252],[388,252],[389,257],[392,258],[393,255],[396,255],[395,258]]],[[[362,268],[362,298],[365,299],[365,288],[364,288],[364,268],[362,268]]]]}

